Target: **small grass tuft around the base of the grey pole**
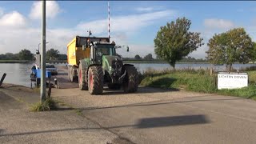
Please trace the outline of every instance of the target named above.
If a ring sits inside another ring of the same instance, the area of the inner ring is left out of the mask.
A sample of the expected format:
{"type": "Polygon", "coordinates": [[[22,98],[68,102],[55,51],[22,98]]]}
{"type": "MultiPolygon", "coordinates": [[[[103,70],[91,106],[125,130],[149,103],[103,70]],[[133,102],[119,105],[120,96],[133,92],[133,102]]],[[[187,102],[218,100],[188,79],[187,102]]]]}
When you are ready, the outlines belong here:
{"type": "Polygon", "coordinates": [[[57,109],[57,102],[52,98],[46,98],[44,102],[37,102],[34,105],[30,106],[30,111],[50,111],[57,109]]]}

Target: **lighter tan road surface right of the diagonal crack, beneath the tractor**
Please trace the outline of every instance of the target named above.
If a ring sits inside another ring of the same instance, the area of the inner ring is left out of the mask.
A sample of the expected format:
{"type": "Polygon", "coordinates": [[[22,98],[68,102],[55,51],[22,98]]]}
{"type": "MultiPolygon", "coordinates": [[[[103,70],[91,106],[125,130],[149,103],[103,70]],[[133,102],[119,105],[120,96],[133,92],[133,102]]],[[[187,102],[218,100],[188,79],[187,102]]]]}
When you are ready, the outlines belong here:
{"type": "Polygon", "coordinates": [[[244,98],[145,87],[136,94],[105,89],[100,96],[56,89],[53,96],[128,143],[256,142],[256,102],[244,98]]]}

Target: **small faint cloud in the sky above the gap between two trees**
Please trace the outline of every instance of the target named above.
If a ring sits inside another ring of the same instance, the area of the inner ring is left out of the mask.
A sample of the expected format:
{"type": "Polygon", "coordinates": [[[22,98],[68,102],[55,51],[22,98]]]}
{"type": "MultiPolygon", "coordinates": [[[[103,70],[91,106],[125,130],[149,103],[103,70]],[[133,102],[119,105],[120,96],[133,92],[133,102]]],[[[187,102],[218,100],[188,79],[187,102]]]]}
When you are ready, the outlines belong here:
{"type": "Polygon", "coordinates": [[[231,29],[234,27],[234,23],[225,19],[210,18],[205,19],[204,26],[206,28],[231,29]]]}

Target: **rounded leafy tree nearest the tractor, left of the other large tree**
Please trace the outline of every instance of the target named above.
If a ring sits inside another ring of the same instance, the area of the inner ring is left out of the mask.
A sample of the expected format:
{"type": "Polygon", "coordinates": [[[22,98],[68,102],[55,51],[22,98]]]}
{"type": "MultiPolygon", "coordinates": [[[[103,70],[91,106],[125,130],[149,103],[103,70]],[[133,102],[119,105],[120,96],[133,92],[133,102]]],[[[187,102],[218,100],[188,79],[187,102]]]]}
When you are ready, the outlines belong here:
{"type": "Polygon", "coordinates": [[[190,20],[178,18],[176,22],[167,22],[166,26],[161,26],[154,38],[154,52],[157,57],[166,60],[175,68],[178,60],[202,46],[200,33],[190,32],[190,25],[190,20]]]}

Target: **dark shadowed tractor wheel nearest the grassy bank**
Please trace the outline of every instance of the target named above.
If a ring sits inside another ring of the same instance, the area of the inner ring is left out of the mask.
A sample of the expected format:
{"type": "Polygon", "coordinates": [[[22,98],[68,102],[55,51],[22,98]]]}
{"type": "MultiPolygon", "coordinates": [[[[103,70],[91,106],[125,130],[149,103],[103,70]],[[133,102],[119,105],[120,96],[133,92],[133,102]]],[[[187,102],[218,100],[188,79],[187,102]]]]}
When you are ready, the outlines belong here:
{"type": "Polygon", "coordinates": [[[126,76],[122,82],[122,88],[126,93],[133,93],[138,90],[138,72],[134,66],[124,66],[126,76]]]}

